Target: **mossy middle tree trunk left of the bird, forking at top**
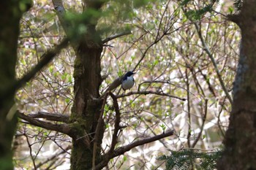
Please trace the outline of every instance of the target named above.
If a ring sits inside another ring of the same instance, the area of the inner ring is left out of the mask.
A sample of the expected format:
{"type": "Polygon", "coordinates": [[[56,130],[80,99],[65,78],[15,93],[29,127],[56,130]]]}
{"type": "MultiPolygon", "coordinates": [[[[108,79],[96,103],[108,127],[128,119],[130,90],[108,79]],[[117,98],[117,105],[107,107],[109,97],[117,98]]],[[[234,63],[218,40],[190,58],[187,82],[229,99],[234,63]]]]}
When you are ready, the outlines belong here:
{"type": "MultiPolygon", "coordinates": [[[[86,1],[84,12],[92,9],[95,12],[102,6],[102,1],[86,1]]],[[[69,36],[75,32],[76,26],[72,27],[65,18],[65,9],[61,0],[53,0],[54,7],[61,21],[64,31],[69,36]]],[[[83,14],[82,14],[83,15],[83,14]]],[[[88,15],[88,13],[86,13],[88,15]]],[[[99,98],[99,85],[102,83],[100,75],[100,56],[102,53],[102,40],[96,31],[97,17],[91,15],[83,21],[86,26],[86,33],[80,40],[69,37],[71,45],[75,50],[74,65],[74,93],[75,99],[70,117],[70,125],[75,128],[76,134],[72,135],[72,170],[91,169],[92,164],[102,161],[100,148],[104,134],[104,124],[98,125],[99,115],[101,114],[102,99],[99,98]],[[97,139],[95,137],[98,128],[97,139]],[[97,147],[94,147],[96,144],[97,147]],[[94,152],[96,149],[96,152],[94,152]],[[93,158],[96,158],[93,161],[93,158]]]]}

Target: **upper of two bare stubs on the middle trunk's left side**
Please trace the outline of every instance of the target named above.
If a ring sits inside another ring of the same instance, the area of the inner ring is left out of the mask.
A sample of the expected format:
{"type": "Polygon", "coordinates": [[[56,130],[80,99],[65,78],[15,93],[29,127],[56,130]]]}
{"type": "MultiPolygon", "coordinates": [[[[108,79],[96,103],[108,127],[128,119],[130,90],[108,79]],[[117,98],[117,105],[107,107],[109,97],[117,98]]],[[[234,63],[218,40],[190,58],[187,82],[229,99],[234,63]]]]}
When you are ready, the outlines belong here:
{"type": "Polygon", "coordinates": [[[63,114],[49,113],[49,112],[37,112],[36,114],[29,114],[29,117],[45,118],[46,120],[58,121],[63,123],[69,122],[69,116],[63,114]]]}

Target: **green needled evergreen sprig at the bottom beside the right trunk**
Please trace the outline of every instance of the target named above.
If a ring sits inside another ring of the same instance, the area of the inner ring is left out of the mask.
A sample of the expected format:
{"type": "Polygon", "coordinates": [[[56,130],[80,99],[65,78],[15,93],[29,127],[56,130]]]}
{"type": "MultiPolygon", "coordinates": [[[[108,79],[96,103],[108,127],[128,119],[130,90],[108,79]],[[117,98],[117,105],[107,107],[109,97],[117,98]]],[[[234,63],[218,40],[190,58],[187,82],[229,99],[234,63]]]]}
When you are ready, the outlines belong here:
{"type": "Polygon", "coordinates": [[[173,151],[170,156],[162,155],[160,161],[166,161],[167,170],[195,169],[211,170],[217,168],[217,160],[222,155],[222,150],[214,152],[200,152],[199,150],[184,149],[173,151]]]}

